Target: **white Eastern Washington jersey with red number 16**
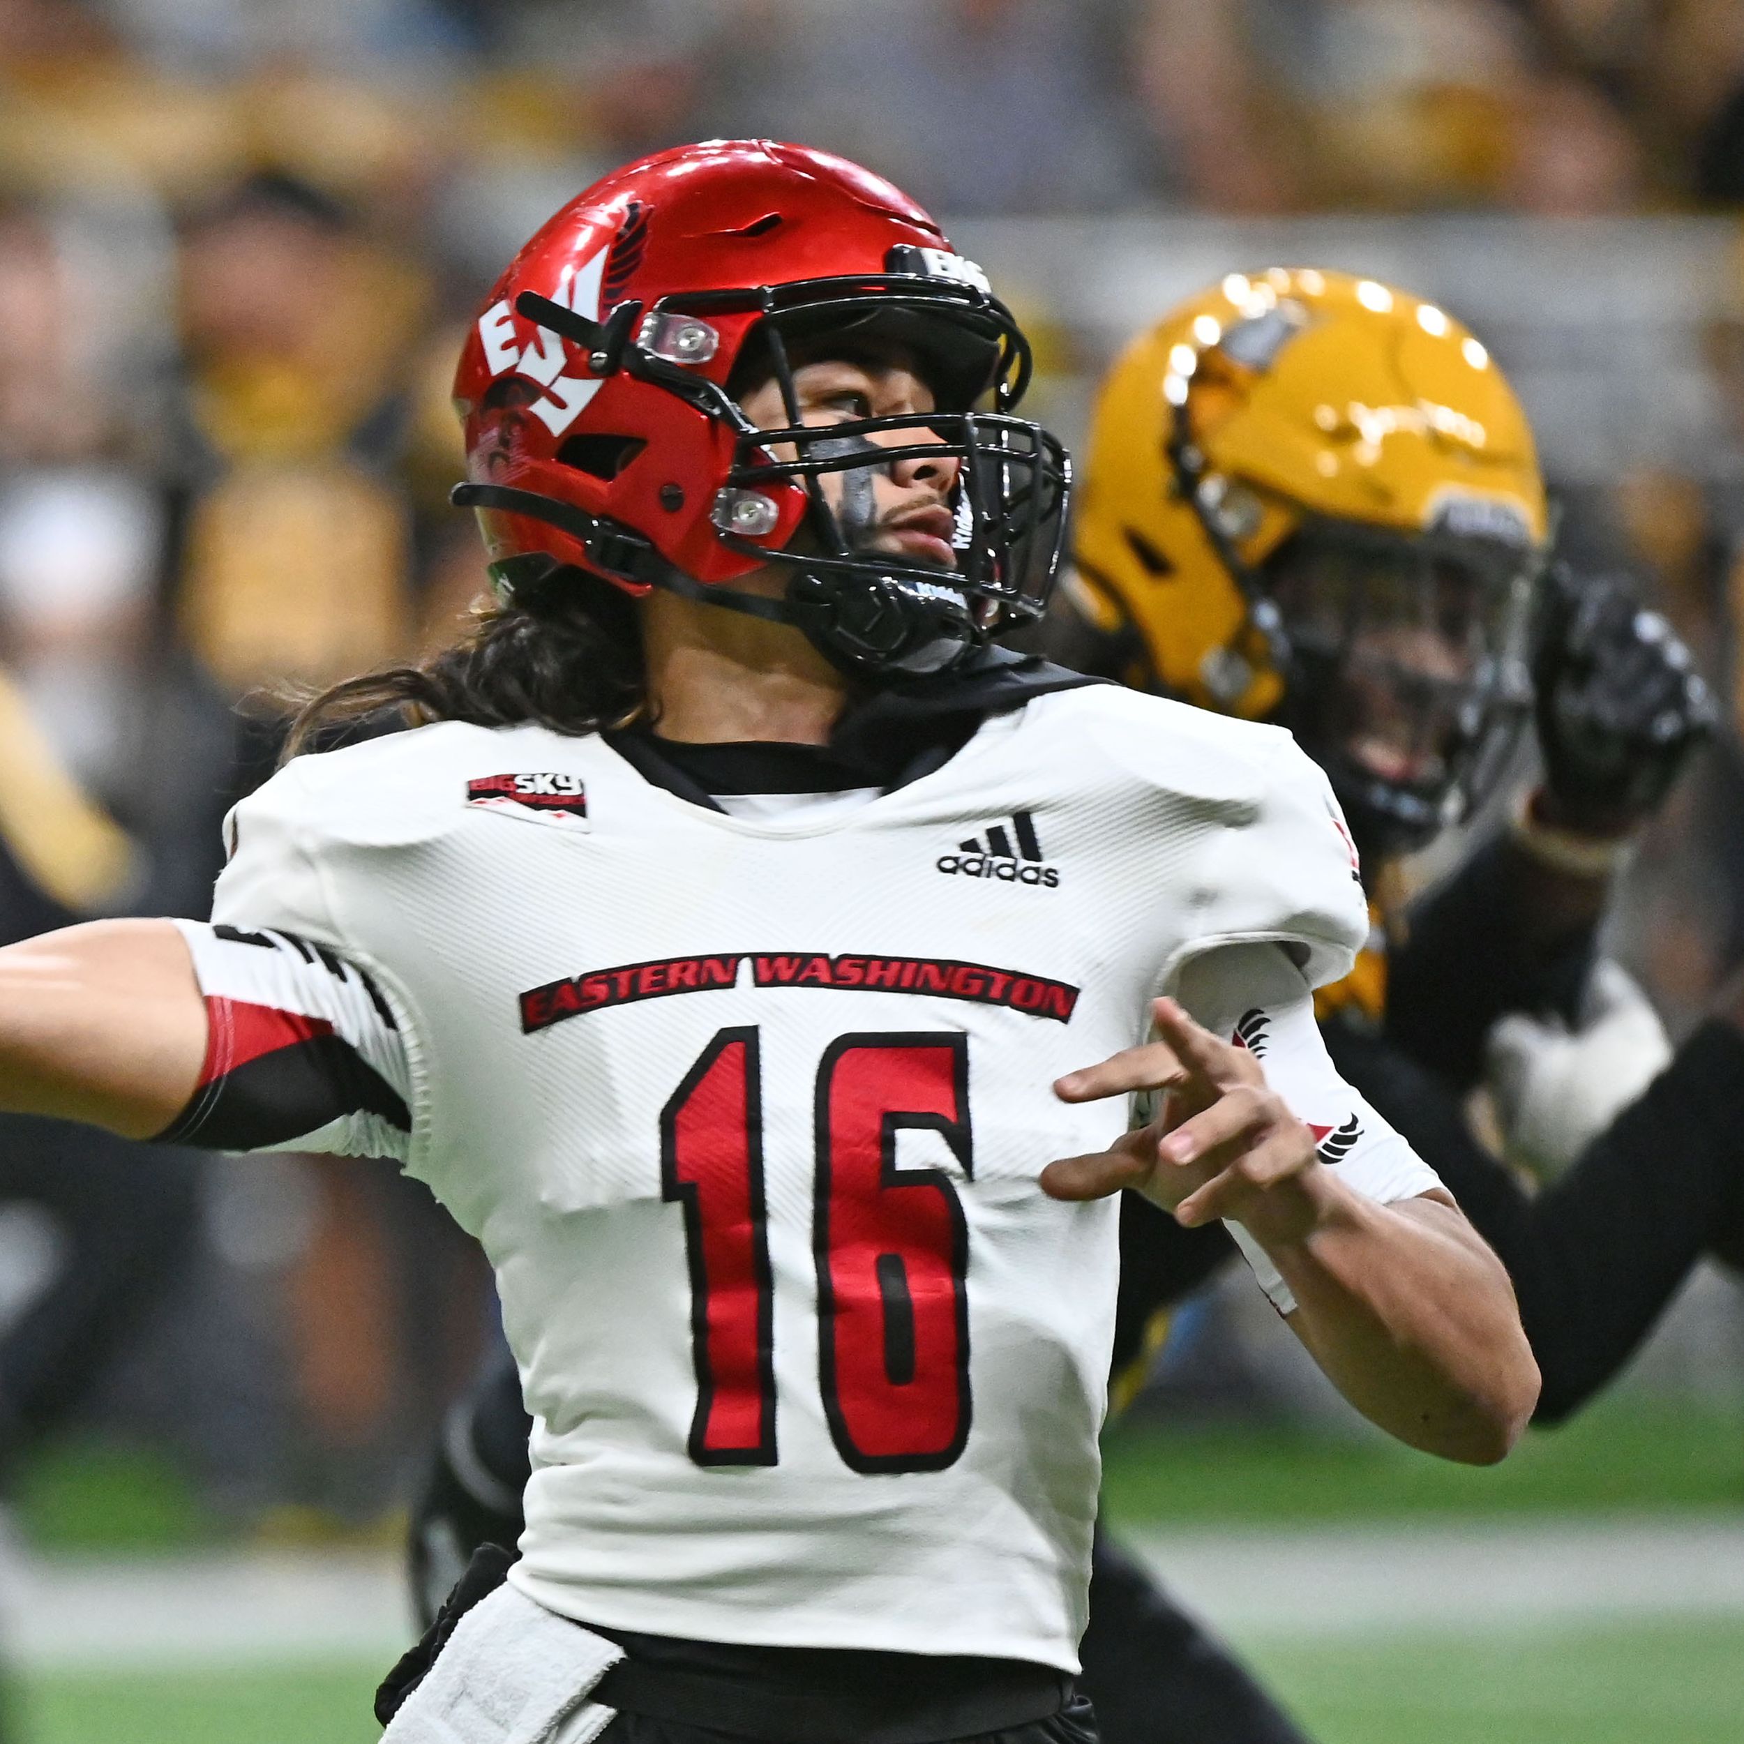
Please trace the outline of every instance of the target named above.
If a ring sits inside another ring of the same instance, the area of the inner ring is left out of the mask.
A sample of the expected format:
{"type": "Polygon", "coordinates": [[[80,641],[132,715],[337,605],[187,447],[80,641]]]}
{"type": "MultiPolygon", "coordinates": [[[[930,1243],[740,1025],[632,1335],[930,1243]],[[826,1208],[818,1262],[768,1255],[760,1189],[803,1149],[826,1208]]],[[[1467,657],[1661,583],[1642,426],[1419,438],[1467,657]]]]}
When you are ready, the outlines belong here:
{"type": "MultiPolygon", "coordinates": [[[[441,724],[302,757],[232,828],[232,961],[361,971],[298,1034],[391,1010],[377,1113],[316,1142],[403,1134],[497,1270],[525,1592],[1076,1669],[1118,1202],[1038,1175],[1128,1106],[1052,1081],[1217,947],[1284,944],[1303,1001],[1348,970],[1355,860],[1287,734],[1074,689],[869,802],[731,816],[600,738],[441,724]]],[[[1435,1184],[1392,1144],[1376,1196],[1435,1184]]]]}

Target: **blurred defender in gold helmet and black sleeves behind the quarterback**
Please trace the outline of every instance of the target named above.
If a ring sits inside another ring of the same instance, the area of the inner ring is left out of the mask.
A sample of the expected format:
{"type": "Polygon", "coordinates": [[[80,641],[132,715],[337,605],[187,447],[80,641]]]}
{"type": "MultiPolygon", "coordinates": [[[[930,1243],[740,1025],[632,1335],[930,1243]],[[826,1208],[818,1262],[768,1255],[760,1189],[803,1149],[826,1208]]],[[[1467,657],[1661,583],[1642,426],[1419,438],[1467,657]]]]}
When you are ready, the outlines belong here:
{"type": "MultiPolygon", "coordinates": [[[[1231,276],[1104,385],[1055,630],[1085,670],[1287,722],[1325,769],[1376,923],[1317,994],[1327,1048],[1509,1266],[1556,1421],[1744,1224],[1744,994],[1648,1088],[1657,1025],[1594,935],[1713,710],[1622,586],[1552,570],[1531,605],[1543,542],[1531,434],[1477,338],[1376,281],[1231,276]],[[1481,804],[1528,706],[1542,781],[1407,912],[1400,858],[1481,804]],[[1498,1032],[1503,1127],[1559,1174],[1536,1196],[1465,1118],[1498,1032]]],[[[1139,1357],[1226,1242],[1135,1203],[1127,1224],[1118,1355],[1139,1357]]],[[[1111,1744],[1294,1735],[1107,1543],[1083,1662],[1111,1744]]]]}

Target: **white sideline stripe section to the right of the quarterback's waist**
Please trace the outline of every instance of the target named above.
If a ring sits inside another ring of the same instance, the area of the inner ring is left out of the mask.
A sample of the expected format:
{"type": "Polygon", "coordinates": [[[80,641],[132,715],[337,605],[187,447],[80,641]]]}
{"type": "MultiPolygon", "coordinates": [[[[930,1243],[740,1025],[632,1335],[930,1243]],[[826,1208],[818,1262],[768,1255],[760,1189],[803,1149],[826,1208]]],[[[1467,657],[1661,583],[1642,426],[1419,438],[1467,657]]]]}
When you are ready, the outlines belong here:
{"type": "Polygon", "coordinates": [[[1189,1610],[1238,1636],[1744,1620],[1741,1512],[1242,1526],[1127,1542],[1189,1610]]]}

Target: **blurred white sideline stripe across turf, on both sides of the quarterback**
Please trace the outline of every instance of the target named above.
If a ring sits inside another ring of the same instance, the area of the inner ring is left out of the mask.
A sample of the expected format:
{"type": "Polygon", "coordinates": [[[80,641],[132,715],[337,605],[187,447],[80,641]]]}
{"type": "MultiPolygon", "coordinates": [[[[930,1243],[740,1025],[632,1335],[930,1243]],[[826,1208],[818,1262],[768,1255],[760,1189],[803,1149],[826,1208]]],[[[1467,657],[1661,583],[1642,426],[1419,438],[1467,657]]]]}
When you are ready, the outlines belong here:
{"type": "MultiPolygon", "coordinates": [[[[1744,1514],[1121,1538],[1177,1599],[1238,1638],[1735,1617],[1744,1643],[1744,1514]]],[[[410,1639],[396,1556],[0,1559],[3,1664],[178,1669],[344,1659],[385,1671],[410,1639]]]]}

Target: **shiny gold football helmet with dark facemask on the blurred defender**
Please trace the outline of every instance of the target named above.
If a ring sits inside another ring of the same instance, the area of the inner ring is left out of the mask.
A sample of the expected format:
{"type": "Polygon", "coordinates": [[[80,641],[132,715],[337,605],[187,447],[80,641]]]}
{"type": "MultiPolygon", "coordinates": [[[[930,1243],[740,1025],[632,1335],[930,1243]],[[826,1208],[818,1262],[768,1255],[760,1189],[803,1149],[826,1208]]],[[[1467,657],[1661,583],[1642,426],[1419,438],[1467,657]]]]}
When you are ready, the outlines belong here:
{"type": "Polygon", "coordinates": [[[1545,549],[1531,431],[1484,347],[1373,279],[1230,274],[1097,405],[1071,598],[1120,677],[1280,720],[1371,849],[1500,762],[1545,549]]]}

